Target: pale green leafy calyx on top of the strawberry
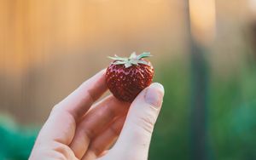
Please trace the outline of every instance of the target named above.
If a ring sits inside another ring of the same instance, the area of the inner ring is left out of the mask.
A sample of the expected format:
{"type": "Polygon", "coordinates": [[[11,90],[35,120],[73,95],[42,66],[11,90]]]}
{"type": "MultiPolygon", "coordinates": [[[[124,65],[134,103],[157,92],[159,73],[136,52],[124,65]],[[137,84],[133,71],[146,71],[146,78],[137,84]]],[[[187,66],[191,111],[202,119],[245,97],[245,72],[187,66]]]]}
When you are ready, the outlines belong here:
{"type": "Polygon", "coordinates": [[[115,60],[113,65],[125,65],[125,68],[129,68],[132,65],[138,66],[139,64],[148,65],[146,60],[142,60],[143,58],[151,57],[152,55],[149,52],[143,52],[143,54],[136,54],[133,52],[130,57],[119,57],[118,55],[114,55],[114,57],[109,57],[111,60],[115,60]]]}

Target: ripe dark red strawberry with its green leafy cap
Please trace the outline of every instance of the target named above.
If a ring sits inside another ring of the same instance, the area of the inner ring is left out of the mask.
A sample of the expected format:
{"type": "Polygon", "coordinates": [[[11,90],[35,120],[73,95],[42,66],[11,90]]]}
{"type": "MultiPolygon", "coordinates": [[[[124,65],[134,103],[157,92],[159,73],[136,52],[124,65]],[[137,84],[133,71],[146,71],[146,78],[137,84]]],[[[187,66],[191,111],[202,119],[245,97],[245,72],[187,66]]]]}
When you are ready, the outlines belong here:
{"type": "Polygon", "coordinates": [[[149,56],[150,53],[144,52],[139,55],[132,53],[129,58],[109,57],[114,61],[108,66],[106,81],[117,99],[131,102],[152,83],[154,68],[150,61],[143,59],[149,56]]]}

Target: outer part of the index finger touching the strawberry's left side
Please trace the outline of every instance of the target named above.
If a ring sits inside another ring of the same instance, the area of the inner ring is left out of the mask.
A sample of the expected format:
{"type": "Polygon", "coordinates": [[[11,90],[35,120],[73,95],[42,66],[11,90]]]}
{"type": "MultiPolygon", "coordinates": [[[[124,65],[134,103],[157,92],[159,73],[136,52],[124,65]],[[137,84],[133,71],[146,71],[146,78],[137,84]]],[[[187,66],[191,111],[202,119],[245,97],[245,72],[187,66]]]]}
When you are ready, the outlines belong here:
{"type": "Polygon", "coordinates": [[[104,69],[95,76],[90,77],[72,94],[69,94],[66,99],[57,104],[55,108],[69,112],[78,121],[79,117],[82,117],[90,109],[90,106],[108,89],[105,71],[104,69]]]}

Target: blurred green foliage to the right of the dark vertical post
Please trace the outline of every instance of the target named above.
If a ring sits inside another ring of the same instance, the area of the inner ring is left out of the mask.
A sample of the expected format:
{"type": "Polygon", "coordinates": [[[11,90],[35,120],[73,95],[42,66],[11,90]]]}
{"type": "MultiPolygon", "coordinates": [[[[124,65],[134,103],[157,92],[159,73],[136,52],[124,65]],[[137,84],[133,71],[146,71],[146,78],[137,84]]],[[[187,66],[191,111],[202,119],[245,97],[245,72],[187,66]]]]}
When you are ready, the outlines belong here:
{"type": "Polygon", "coordinates": [[[256,68],[249,60],[228,77],[212,77],[209,137],[214,159],[256,159],[256,68]]]}

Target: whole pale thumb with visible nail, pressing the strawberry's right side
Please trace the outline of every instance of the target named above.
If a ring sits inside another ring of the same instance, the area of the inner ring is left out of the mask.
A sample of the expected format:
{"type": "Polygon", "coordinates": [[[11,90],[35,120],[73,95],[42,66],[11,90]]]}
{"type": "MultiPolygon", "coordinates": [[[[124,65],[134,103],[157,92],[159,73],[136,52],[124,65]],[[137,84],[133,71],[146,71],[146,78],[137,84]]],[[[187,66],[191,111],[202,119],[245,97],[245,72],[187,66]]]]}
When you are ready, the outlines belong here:
{"type": "Polygon", "coordinates": [[[137,96],[131,104],[119,140],[113,147],[114,152],[127,159],[148,158],[151,135],[163,96],[164,88],[160,83],[152,83],[137,96]]]}

